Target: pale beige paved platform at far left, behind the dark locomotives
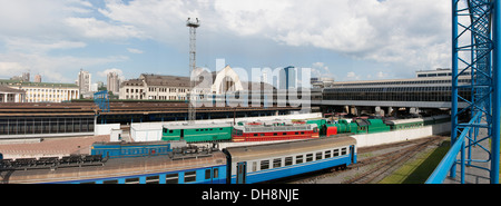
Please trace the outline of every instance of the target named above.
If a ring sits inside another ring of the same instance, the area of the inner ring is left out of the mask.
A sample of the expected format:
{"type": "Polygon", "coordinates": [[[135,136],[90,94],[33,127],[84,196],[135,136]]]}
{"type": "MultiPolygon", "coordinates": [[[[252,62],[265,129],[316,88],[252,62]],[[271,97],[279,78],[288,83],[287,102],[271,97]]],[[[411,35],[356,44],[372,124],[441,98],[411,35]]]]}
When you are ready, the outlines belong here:
{"type": "Polygon", "coordinates": [[[109,141],[109,135],[46,138],[40,143],[0,145],[4,159],[62,157],[70,154],[89,154],[90,146],[96,141],[109,141]]]}

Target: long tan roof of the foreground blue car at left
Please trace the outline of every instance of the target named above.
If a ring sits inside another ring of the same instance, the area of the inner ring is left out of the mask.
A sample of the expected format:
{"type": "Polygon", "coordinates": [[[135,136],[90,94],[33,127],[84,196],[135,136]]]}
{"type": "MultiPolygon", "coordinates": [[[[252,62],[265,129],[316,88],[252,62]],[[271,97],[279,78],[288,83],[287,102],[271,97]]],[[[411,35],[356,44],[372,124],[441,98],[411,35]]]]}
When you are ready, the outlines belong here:
{"type": "Polygon", "coordinates": [[[12,184],[32,184],[110,178],[217,166],[224,165],[225,160],[226,156],[219,150],[205,156],[185,155],[171,158],[168,155],[159,155],[117,158],[107,160],[104,166],[75,166],[55,170],[50,168],[9,170],[7,173],[11,173],[10,176],[1,176],[0,180],[12,184]]]}

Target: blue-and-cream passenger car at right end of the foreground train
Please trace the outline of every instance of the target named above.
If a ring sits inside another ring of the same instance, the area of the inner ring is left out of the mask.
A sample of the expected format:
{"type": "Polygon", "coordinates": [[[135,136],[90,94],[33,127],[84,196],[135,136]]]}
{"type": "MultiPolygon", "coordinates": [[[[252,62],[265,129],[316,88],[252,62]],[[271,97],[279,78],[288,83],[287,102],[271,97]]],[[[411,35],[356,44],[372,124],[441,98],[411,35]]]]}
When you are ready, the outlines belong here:
{"type": "Polygon", "coordinates": [[[356,140],[330,137],[224,149],[228,183],[268,182],[356,163],[356,140]]]}

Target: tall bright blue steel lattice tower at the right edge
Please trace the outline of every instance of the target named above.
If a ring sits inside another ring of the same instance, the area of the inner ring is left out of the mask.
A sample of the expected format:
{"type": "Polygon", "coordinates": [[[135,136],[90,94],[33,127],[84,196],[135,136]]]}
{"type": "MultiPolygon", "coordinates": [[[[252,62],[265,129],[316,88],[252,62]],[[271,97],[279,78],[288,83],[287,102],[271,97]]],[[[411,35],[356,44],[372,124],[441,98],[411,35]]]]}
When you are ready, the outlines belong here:
{"type": "MultiPolygon", "coordinates": [[[[452,1],[452,133],[451,150],[458,148],[461,156],[450,169],[455,176],[461,166],[461,183],[464,183],[465,165],[489,170],[490,182],[499,183],[500,157],[500,1],[501,0],[453,0],[452,1]],[[459,85],[459,76],[471,76],[471,84],[459,85]],[[470,90],[464,97],[462,90],[470,90]],[[458,104],[466,108],[459,110],[458,104]],[[469,117],[460,122],[461,116],[469,117]],[[479,129],[485,129],[481,135],[479,129]],[[485,135],[487,134],[487,135],[485,135]],[[489,144],[480,145],[482,141],[489,144]],[[473,159],[471,149],[483,149],[488,159],[473,159]],[[468,153],[468,155],[466,155],[468,153]],[[475,163],[489,163],[490,168],[475,163]]],[[[456,155],[458,153],[455,153],[456,155]]],[[[454,155],[452,153],[452,155],[454,155]]]]}

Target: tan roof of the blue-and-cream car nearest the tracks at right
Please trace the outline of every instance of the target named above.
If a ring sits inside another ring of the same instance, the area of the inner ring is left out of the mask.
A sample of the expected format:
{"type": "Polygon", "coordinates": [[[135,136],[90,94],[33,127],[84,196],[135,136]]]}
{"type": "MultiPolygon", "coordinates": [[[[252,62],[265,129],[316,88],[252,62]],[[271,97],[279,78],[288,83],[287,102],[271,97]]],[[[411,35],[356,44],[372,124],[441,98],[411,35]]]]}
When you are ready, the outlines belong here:
{"type": "Polygon", "coordinates": [[[253,145],[227,147],[234,163],[277,157],[289,156],[313,150],[330,149],[347,145],[355,145],[356,140],[350,136],[333,136],[307,140],[286,141],[279,144],[253,145]]]}

